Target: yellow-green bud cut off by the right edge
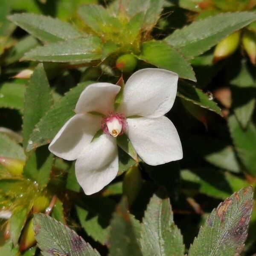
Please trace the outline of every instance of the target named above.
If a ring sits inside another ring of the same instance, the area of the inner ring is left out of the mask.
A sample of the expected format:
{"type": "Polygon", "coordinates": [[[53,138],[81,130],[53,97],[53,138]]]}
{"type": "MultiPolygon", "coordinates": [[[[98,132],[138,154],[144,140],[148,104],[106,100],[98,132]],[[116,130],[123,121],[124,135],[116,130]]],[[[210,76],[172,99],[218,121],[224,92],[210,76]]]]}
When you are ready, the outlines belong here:
{"type": "Polygon", "coordinates": [[[244,51],[248,54],[252,64],[256,64],[256,33],[253,31],[245,31],[242,36],[242,44],[244,51]]]}

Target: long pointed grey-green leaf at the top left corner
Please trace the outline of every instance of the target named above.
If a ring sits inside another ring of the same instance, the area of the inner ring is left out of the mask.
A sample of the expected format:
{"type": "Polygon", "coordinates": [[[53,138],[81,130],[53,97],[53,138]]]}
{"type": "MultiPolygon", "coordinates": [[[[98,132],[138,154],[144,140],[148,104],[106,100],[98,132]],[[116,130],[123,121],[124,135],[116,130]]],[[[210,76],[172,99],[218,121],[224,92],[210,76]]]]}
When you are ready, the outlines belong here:
{"type": "Polygon", "coordinates": [[[81,36],[69,23],[49,16],[32,13],[16,13],[8,18],[41,41],[53,43],[81,36]]]}

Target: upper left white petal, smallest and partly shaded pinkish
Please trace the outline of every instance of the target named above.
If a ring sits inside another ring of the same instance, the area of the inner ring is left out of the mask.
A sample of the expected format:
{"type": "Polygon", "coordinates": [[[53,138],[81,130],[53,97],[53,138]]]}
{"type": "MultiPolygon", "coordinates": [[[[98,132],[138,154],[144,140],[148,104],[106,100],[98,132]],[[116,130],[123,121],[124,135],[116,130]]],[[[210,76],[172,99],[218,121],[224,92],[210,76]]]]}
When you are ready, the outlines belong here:
{"type": "Polygon", "coordinates": [[[110,83],[95,83],[88,85],[81,93],[76,103],[76,113],[98,112],[107,114],[113,111],[116,94],[120,86],[110,83]]]}

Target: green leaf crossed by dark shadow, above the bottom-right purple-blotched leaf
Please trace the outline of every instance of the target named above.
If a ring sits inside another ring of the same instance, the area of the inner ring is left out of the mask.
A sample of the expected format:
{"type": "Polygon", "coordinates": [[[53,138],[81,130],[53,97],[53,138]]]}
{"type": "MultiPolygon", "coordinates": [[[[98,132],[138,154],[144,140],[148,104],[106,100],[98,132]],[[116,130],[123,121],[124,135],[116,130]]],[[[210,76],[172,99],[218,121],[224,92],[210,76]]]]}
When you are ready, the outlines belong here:
{"type": "Polygon", "coordinates": [[[245,180],[229,172],[220,172],[218,169],[209,167],[183,169],[180,175],[184,188],[198,190],[214,198],[225,199],[233,192],[248,186],[245,180]]]}

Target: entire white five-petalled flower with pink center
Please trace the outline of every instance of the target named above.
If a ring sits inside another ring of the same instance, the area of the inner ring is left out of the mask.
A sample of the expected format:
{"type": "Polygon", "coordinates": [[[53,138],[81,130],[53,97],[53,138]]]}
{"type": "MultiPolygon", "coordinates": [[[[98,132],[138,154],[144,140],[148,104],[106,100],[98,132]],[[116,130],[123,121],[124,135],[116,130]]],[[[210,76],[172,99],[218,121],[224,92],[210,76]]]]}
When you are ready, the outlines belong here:
{"type": "Polygon", "coordinates": [[[177,130],[164,116],[175,101],[177,80],[178,75],[168,70],[137,71],[126,82],[122,103],[116,111],[114,100],[120,86],[95,83],[84,89],[76,104],[76,115],[64,124],[49,150],[66,160],[77,159],[76,178],[85,194],[98,192],[116,177],[116,137],[122,133],[149,165],[183,157],[177,130]],[[102,135],[93,139],[99,129],[103,130],[102,135]]]}

